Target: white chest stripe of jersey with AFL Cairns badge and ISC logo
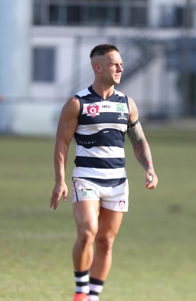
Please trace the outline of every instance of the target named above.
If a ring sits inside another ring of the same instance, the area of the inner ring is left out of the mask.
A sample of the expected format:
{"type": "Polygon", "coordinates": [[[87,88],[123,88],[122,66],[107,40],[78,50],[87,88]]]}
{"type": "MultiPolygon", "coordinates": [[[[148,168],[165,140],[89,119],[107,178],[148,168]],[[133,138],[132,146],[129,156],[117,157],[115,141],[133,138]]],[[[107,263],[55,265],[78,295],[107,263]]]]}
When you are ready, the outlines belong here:
{"type": "MultiPolygon", "coordinates": [[[[99,106],[99,110],[96,110],[96,113],[103,113],[103,112],[112,112],[112,113],[129,113],[128,108],[127,108],[127,104],[122,104],[120,102],[112,102],[112,101],[95,101],[94,104],[96,104],[96,106],[99,106]],[[118,111],[117,110],[117,106],[118,105],[123,105],[124,110],[123,111],[118,111]]],[[[89,104],[83,104],[83,114],[87,114],[87,107],[89,107],[89,104]]],[[[93,107],[91,107],[93,109],[93,107]]],[[[93,113],[93,112],[92,112],[93,113]]]]}

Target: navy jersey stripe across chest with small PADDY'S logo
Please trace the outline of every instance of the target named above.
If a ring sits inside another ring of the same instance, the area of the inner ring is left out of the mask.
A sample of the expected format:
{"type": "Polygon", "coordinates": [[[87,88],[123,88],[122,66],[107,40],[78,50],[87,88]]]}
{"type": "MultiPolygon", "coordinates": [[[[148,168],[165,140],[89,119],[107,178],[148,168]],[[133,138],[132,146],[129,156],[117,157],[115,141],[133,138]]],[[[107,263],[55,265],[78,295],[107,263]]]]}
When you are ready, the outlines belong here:
{"type": "Polygon", "coordinates": [[[108,113],[108,112],[102,112],[100,115],[96,115],[94,117],[87,116],[86,114],[83,114],[80,116],[80,120],[78,124],[85,124],[90,125],[94,123],[128,123],[129,114],[121,112],[115,112],[115,113],[108,113]]]}

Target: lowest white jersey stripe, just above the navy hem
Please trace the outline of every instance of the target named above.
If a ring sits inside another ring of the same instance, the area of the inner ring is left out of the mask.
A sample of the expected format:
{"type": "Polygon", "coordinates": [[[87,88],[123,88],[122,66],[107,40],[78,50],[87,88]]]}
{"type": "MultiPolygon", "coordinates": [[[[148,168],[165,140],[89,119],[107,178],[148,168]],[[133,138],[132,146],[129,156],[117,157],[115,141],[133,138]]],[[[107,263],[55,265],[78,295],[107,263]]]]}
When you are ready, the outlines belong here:
{"type": "MultiPolygon", "coordinates": [[[[87,158],[88,160],[88,158],[87,158]]],[[[121,168],[90,168],[75,167],[73,177],[76,178],[100,178],[100,179],[119,179],[126,178],[125,167],[121,168]]]]}

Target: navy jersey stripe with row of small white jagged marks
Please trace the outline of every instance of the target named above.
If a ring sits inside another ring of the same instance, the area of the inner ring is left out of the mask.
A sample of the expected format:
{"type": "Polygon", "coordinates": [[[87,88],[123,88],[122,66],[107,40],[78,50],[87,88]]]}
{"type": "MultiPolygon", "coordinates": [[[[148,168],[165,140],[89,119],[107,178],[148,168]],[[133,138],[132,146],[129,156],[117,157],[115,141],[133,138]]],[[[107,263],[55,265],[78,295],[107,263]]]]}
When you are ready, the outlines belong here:
{"type": "Polygon", "coordinates": [[[77,145],[85,148],[93,146],[118,146],[123,147],[125,142],[125,132],[116,129],[103,129],[96,134],[80,135],[74,133],[77,145]]]}

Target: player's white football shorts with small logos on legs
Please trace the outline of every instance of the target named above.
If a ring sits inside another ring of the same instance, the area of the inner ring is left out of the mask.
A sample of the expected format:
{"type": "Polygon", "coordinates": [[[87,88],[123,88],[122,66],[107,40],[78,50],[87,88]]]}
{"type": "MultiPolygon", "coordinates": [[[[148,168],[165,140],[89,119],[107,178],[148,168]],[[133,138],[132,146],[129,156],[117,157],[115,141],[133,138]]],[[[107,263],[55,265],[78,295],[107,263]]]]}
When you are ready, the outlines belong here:
{"type": "Polygon", "coordinates": [[[85,179],[72,179],[72,204],[85,201],[94,200],[101,203],[101,207],[118,211],[128,211],[128,180],[118,186],[103,187],[85,179]]]}

